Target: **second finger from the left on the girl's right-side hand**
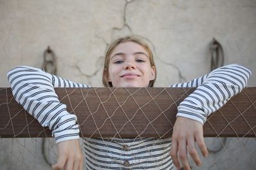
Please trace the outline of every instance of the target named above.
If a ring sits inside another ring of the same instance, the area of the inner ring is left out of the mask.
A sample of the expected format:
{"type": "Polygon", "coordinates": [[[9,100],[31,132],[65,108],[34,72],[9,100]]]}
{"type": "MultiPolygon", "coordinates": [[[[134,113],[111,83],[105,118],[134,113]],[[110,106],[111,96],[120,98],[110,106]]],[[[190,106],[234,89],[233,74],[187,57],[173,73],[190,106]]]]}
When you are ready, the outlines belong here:
{"type": "Polygon", "coordinates": [[[179,159],[182,164],[182,167],[184,170],[190,170],[190,166],[188,163],[188,156],[187,156],[187,143],[186,139],[180,139],[179,140],[179,159]]]}

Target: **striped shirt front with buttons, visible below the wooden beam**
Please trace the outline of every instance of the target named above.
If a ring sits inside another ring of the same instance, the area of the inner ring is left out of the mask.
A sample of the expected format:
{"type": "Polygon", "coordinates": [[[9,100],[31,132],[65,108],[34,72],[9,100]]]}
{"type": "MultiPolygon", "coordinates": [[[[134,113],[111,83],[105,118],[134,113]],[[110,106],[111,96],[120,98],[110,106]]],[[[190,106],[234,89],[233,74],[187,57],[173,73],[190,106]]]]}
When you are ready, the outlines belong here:
{"type": "Polygon", "coordinates": [[[172,169],[171,138],[84,138],[88,169],[172,169]],[[128,148],[124,149],[124,145],[128,148]]]}

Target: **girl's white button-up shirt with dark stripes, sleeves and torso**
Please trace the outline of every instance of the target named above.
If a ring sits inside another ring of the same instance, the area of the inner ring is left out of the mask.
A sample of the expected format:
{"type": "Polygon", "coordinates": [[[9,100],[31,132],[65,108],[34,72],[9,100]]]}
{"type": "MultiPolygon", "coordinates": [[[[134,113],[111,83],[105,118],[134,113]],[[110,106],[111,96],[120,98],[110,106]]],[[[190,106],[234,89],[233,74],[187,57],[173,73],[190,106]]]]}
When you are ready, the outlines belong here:
{"type": "MultiPolygon", "coordinates": [[[[239,64],[215,69],[205,76],[170,87],[197,87],[178,106],[177,116],[204,124],[207,116],[246,87],[251,71],[239,64]]],[[[79,138],[76,115],[60,103],[54,87],[90,87],[73,83],[34,67],[8,72],[15,100],[44,127],[56,143],[79,138]]],[[[84,138],[86,169],[172,169],[171,138],[84,138]]]]}

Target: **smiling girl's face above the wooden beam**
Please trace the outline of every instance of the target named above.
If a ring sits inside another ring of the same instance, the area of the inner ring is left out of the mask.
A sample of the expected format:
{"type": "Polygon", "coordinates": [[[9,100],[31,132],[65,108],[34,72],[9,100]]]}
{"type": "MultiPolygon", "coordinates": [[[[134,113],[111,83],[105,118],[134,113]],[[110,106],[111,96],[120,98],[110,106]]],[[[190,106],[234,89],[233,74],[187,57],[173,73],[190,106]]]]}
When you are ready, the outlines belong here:
{"type": "Polygon", "coordinates": [[[148,87],[155,74],[147,51],[138,43],[120,43],[110,54],[108,81],[113,87],[148,87]]]}

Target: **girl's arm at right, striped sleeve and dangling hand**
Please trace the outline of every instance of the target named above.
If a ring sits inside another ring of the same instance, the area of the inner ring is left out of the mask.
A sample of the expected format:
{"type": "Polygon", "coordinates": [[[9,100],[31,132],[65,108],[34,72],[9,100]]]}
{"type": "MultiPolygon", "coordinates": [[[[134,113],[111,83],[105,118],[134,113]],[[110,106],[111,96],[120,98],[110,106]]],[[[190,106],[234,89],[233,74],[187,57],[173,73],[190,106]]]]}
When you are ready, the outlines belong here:
{"type": "Polygon", "coordinates": [[[196,142],[203,155],[207,155],[202,125],[207,116],[220,109],[231,97],[246,87],[251,74],[246,67],[230,64],[188,83],[172,85],[172,87],[197,87],[178,107],[171,150],[175,166],[180,167],[180,159],[182,166],[190,169],[186,156],[187,145],[188,152],[196,164],[202,164],[195,150],[196,142]]]}

